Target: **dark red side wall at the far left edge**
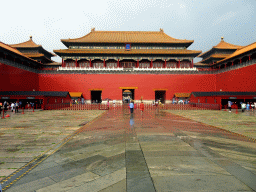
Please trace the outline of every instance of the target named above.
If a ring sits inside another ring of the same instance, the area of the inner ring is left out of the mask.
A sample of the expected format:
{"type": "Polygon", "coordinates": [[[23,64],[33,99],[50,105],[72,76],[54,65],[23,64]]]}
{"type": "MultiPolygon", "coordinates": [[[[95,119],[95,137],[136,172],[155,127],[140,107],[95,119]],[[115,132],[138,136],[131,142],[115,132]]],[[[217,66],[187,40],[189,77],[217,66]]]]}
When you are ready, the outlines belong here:
{"type": "Polygon", "coordinates": [[[38,74],[0,63],[0,91],[38,91],[38,74]]]}

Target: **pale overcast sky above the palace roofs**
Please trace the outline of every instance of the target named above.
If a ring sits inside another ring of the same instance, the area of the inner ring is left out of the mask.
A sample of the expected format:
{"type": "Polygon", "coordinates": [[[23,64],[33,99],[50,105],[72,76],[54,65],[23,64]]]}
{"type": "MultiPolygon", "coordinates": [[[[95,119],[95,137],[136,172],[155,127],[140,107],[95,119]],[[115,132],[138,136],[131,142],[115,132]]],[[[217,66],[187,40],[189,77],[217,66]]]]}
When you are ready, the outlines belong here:
{"type": "MultiPolygon", "coordinates": [[[[256,42],[255,0],[11,0],[1,1],[0,41],[29,40],[47,51],[66,48],[60,39],[78,38],[95,27],[106,31],[159,31],[194,40],[190,50],[224,41],[256,42]]],[[[52,60],[60,62],[59,57],[52,60]]],[[[195,62],[201,59],[196,59],[195,62]]]]}

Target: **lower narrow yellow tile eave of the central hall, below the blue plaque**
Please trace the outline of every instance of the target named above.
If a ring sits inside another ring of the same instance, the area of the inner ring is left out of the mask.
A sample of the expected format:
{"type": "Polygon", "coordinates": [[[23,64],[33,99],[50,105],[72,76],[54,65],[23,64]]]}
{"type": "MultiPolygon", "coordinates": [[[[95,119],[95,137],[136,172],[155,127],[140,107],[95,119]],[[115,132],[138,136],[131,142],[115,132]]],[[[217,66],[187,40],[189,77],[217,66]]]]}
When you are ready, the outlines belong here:
{"type": "Polygon", "coordinates": [[[200,54],[202,51],[187,49],[60,49],[53,50],[54,53],[64,54],[200,54]]]}

